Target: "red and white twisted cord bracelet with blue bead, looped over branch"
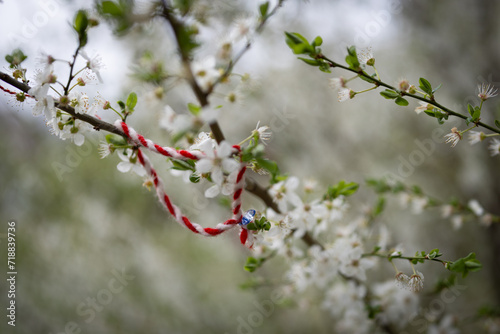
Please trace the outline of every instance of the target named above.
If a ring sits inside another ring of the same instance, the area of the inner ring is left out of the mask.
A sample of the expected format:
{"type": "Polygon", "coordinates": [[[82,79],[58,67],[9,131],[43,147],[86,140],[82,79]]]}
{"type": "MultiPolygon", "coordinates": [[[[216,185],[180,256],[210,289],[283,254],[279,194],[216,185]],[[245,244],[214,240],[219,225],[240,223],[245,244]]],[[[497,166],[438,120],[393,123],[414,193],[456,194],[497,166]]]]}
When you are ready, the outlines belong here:
{"type": "MultiPolygon", "coordinates": [[[[137,146],[139,145],[144,146],[153,152],[182,160],[186,159],[200,160],[206,158],[206,155],[200,151],[175,150],[170,147],[161,147],[160,145],[155,144],[153,141],[146,139],[142,135],[138,134],[133,128],[129,127],[125,122],[121,122],[118,120],[117,122],[115,122],[115,125],[119,129],[123,130],[123,132],[127,135],[131,143],[137,146]]],[[[233,149],[236,152],[240,151],[240,148],[237,145],[233,146],[233,149]]],[[[170,212],[170,214],[175,218],[175,220],[180,225],[188,228],[194,233],[201,234],[207,237],[213,237],[241,223],[243,217],[241,211],[241,195],[243,193],[243,188],[245,187],[245,171],[246,171],[245,163],[240,164],[240,168],[234,185],[234,192],[232,195],[233,198],[231,204],[233,217],[231,219],[226,220],[224,223],[219,223],[214,228],[211,228],[211,227],[203,227],[197,223],[191,222],[189,218],[187,218],[182,214],[179,207],[171,202],[169,196],[166,194],[164,190],[163,181],[158,176],[156,170],[153,168],[153,165],[151,164],[149,158],[142,153],[141,149],[137,149],[137,158],[139,160],[139,163],[146,170],[147,174],[151,177],[153,185],[156,190],[156,195],[158,196],[160,203],[168,212],[170,212]]],[[[241,227],[240,231],[241,243],[251,247],[252,245],[251,234],[248,233],[246,225],[240,224],[240,227],[241,227]]]]}

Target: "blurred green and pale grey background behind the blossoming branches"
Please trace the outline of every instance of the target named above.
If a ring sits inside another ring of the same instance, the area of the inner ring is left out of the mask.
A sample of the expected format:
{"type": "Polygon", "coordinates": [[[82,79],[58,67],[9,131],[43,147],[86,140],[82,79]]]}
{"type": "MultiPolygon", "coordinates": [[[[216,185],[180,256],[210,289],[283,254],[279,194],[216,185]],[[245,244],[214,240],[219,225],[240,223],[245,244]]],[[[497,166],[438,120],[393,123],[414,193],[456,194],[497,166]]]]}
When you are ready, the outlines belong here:
{"type": "MultiPolygon", "coordinates": [[[[254,14],[258,7],[253,1],[200,3],[220,19],[202,34],[207,41],[216,40],[234,20],[254,14]]],[[[18,47],[29,55],[30,71],[36,68],[41,51],[70,59],[76,46],[70,22],[76,10],[89,6],[88,1],[4,0],[0,3],[2,71],[8,71],[3,57],[18,47]]],[[[138,6],[145,4],[138,2],[138,6]]],[[[328,75],[296,60],[284,43],[283,31],[300,32],[309,39],[321,35],[324,53],[339,61],[347,45],[371,46],[384,81],[395,84],[407,78],[417,83],[425,77],[433,85],[443,83],[439,101],[465,113],[468,102],[477,103],[478,83],[500,85],[498,7],[487,0],[286,1],[235,68],[237,73],[250,73],[255,87],[241,103],[214,100],[224,103],[221,127],[237,143],[258,121],[269,125],[273,139],[268,156],[278,161],[282,171],[314,178],[321,185],[341,179],[363,184],[367,177],[397,173],[402,161],[419,149],[415,140],[432,139],[435,129],[447,133],[457,123],[439,125],[417,115],[416,102],[398,107],[378,92],[338,103],[328,79],[347,73],[334,70],[328,75]]],[[[151,87],[131,77],[133,64],[144,51],[165,60],[167,69],[175,69],[168,27],[152,22],[117,38],[102,22],[89,39],[88,53],[99,53],[106,66],[104,84],[89,87],[89,95],[100,93],[116,101],[136,91],[139,104],[133,126],[146,137],[168,143],[168,134],[157,127],[162,107],[148,103],[151,87]]],[[[199,56],[213,51],[214,45],[206,45],[199,56]]],[[[65,73],[64,67],[59,70],[65,73]]],[[[182,86],[165,97],[165,103],[178,112],[186,112],[186,103],[193,101],[182,86]]],[[[499,118],[499,106],[496,99],[486,103],[486,123],[499,118]]],[[[112,119],[112,115],[103,117],[112,119]]],[[[242,332],[241,319],[271,298],[283,281],[285,265],[274,259],[257,273],[247,273],[243,265],[251,254],[238,244],[235,233],[209,239],[179,227],[158,205],[154,193],[141,186],[140,178],[117,171],[116,156],[99,158],[97,145],[103,136],[90,134],[78,148],[50,135],[43,119],[32,117],[30,105],[0,94],[0,254],[5,268],[6,223],[15,220],[18,271],[17,326],[6,326],[2,320],[0,332],[64,333],[71,332],[67,327],[72,323],[82,333],[242,332]],[[69,170],[61,175],[57,163],[69,170]],[[123,289],[105,292],[122,271],[130,278],[123,289]],[[255,281],[264,284],[248,288],[255,281]],[[111,297],[98,305],[95,317],[82,314],[89,309],[82,303],[106,296],[111,297]]],[[[450,148],[433,143],[435,150],[414,166],[405,182],[443,200],[475,198],[487,211],[499,214],[498,157],[489,157],[487,145],[470,146],[464,140],[450,148]]],[[[195,221],[215,225],[228,215],[217,201],[203,198],[208,185],[185,186],[170,175],[163,160],[154,161],[175,202],[195,221]]],[[[362,187],[352,199],[351,210],[360,211],[374,199],[362,187]]],[[[244,201],[249,207],[263,208],[251,195],[245,195],[244,201]]],[[[393,233],[393,243],[402,243],[410,254],[435,247],[447,259],[477,253],[484,269],[460,281],[467,288],[446,305],[447,311],[470,318],[481,306],[500,304],[496,226],[485,228],[470,221],[455,231],[438,210],[412,215],[396,199],[389,201],[383,220],[393,233]]],[[[390,267],[380,269],[382,279],[393,275],[390,267]]],[[[2,271],[0,277],[6,272],[2,271]]],[[[432,264],[422,271],[429,290],[443,274],[432,264]]],[[[5,288],[2,278],[2,305],[7,303],[5,288]]],[[[331,319],[315,297],[304,300],[276,305],[252,332],[331,332],[331,319]]]]}

